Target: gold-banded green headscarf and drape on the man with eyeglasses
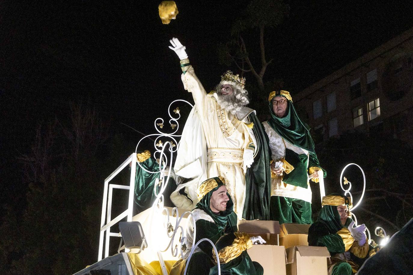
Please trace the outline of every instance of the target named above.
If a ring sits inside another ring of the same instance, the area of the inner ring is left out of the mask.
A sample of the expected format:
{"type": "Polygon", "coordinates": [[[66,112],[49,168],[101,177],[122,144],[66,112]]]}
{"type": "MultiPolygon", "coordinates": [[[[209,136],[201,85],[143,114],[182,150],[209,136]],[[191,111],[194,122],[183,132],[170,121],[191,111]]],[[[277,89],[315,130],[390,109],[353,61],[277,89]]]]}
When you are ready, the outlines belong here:
{"type": "MultiPolygon", "coordinates": [[[[309,128],[306,127],[306,125],[304,125],[298,117],[297,111],[292,104],[292,97],[289,92],[285,90],[271,92],[268,96],[268,106],[271,114],[271,119],[268,120],[268,125],[270,125],[271,128],[283,139],[290,142],[294,146],[309,151],[310,154],[308,158],[309,163],[307,163],[307,157],[305,155],[298,155],[292,150],[286,150],[285,159],[292,166],[294,166],[295,169],[291,173],[286,174],[282,181],[294,186],[307,188],[307,173],[309,173],[309,171],[307,171],[307,167],[309,167],[311,171],[314,170],[314,167],[320,167],[320,162],[318,161],[314,150],[314,141],[311,138],[309,128]],[[287,99],[287,109],[282,118],[275,115],[273,111],[272,100],[275,96],[282,96],[287,99]]],[[[323,171],[323,176],[325,177],[327,173],[323,168],[320,167],[320,169],[323,171]]],[[[313,181],[317,182],[317,179],[314,179],[313,181]]]]}

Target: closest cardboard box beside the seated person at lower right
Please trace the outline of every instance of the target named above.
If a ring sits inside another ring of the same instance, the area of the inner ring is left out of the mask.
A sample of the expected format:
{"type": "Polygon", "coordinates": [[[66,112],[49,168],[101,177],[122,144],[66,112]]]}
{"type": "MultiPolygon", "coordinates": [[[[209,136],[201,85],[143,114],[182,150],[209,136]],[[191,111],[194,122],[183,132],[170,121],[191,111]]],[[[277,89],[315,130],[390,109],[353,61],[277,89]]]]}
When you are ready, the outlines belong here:
{"type": "Polygon", "coordinates": [[[328,275],[327,247],[295,246],[285,249],[287,275],[328,275]]]}

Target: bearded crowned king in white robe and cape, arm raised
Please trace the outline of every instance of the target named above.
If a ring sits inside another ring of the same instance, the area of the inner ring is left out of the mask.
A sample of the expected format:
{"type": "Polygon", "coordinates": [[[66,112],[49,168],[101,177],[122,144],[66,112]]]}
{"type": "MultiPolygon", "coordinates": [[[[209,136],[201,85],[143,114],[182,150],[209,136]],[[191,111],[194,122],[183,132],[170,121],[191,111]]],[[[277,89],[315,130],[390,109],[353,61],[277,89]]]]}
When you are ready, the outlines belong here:
{"type": "Polygon", "coordinates": [[[182,132],[175,172],[185,179],[171,195],[180,208],[193,209],[202,181],[222,176],[238,219],[269,219],[271,172],[268,139],[249,103],[245,78],[227,71],[207,94],[177,38],[169,46],[180,59],[184,89],[195,106],[182,132]]]}

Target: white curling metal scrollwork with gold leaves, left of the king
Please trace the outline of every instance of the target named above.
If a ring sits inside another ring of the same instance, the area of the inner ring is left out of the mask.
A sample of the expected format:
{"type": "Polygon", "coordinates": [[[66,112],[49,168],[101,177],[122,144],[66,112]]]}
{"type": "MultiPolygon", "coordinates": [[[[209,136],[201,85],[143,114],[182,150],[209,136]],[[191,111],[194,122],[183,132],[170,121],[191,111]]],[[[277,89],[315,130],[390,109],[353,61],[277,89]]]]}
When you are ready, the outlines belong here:
{"type": "MultiPolygon", "coordinates": [[[[177,142],[177,138],[181,137],[181,135],[176,134],[178,132],[179,129],[179,122],[178,120],[180,119],[180,110],[179,107],[177,107],[175,110],[173,110],[174,115],[178,116],[177,118],[173,118],[172,114],[171,114],[171,106],[173,103],[177,102],[177,101],[183,101],[185,103],[188,103],[191,107],[192,104],[189,103],[188,101],[185,101],[183,99],[178,99],[175,101],[172,101],[171,104],[169,104],[168,107],[168,114],[169,114],[169,124],[171,125],[171,128],[173,130],[173,132],[171,133],[165,133],[165,132],[161,132],[159,130],[160,129],[164,129],[164,119],[162,118],[157,118],[154,122],[154,126],[155,129],[157,130],[158,134],[150,134],[147,136],[144,136],[142,139],[140,139],[140,141],[138,142],[138,144],[136,145],[135,148],[135,153],[138,151],[138,147],[141,143],[142,140],[152,137],[151,139],[154,139],[154,148],[155,148],[155,152],[153,157],[155,157],[155,159],[158,161],[159,163],[159,172],[152,172],[149,171],[147,169],[145,169],[140,162],[137,162],[137,164],[139,165],[139,167],[141,169],[143,169],[144,171],[151,173],[151,174],[157,174],[159,173],[159,178],[156,179],[155,181],[155,185],[154,185],[154,194],[156,196],[156,199],[154,201],[154,203],[152,204],[152,214],[150,215],[150,225],[151,227],[153,226],[153,222],[154,222],[154,217],[159,216],[159,214],[165,214],[162,215],[165,217],[164,220],[164,227],[166,228],[166,235],[170,238],[169,243],[166,245],[166,247],[164,249],[161,249],[161,252],[166,252],[169,247],[171,248],[171,254],[172,256],[177,256],[178,255],[178,249],[180,251],[180,256],[182,257],[182,259],[185,259],[185,256],[183,254],[183,251],[186,248],[186,244],[185,244],[185,240],[186,240],[186,236],[185,236],[185,230],[183,230],[183,227],[180,225],[180,222],[183,219],[183,216],[185,214],[189,214],[191,217],[191,219],[194,221],[194,238],[192,240],[192,248],[190,251],[190,254],[188,255],[187,263],[185,266],[185,272],[184,274],[186,274],[186,270],[188,268],[188,263],[192,257],[192,254],[194,253],[194,250],[198,247],[199,243],[203,242],[203,241],[207,241],[210,242],[212,247],[214,248],[215,254],[216,254],[216,258],[218,261],[218,275],[221,275],[221,267],[220,267],[220,263],[219,263],[219,257],[218,257],[218,251],[216,250],[216,247],[214,245],[213,242],[211,242],[211,240],[209,239],[202,239],[199,240],[196,244],[195,244],[195,240],[196,240],[196,226],[195,226],[195,220],[194,217],[192,215],[192,213],[190,211],[186,211],[184,212],[182,215],[179,216],[178,213],[178,208],[177,207],[173,207],[172,209],[172,216],[176,217],[176,223],[173,226],[172,223],[170,222],[170,216],[169,216],[169,210],[164,207],[164,191],[166,190],[166,186],[169,183],[169,179],[171,177],[171,172],[172,172],[172,163],[173,163],[173,153],[176,153],[176,151],[178,150],[178,146],[179,146],[179,142],[177,142]],[[164,142],[162,142],[162,139],[164,139],[164,142]],[[166,148],[168,148],[169,150],[169,159],[167,154],[164,152],[166,150],[166,148]],[[167,174],[167,175],[166,175],[167,174]],[[161,186],[159,188],[159,191],[157,190],[158,186],[161,186]],[[178,219],[179,217],[179,219],[178,219]],[[179,238],[179,248],[178,248],[178,244],[175,245],[174,247],[174,240],[175,237],[178,233],[178,230],[180,231],[180,238],[179,238]]],[[[152,235],[152,230],[150,230],[149,232],[149,237],[151,237],[152,235]]]]}

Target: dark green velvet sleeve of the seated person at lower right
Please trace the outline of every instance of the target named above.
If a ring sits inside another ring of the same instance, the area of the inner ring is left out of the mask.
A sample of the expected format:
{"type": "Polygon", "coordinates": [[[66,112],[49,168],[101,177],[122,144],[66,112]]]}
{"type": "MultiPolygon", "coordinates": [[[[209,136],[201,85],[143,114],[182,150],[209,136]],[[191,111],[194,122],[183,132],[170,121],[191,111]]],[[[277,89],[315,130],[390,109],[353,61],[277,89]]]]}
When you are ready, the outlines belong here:
{"type": "Polygon", "coordinates": [[[337,233],[330,233],[327,226],[317,221],[309,228],[308,242],[310,246],[327,247],[331,255],[343,253],[344,242],[337,233]]]}

